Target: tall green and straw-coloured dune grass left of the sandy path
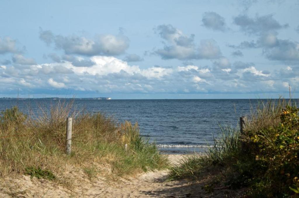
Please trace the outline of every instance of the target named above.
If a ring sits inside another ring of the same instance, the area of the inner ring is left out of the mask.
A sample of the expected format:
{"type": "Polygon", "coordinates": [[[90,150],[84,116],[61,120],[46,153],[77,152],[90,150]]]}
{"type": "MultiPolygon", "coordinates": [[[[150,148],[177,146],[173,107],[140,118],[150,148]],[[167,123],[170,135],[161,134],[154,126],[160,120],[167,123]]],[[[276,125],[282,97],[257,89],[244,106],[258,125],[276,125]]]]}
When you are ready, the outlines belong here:
{"type": "Polygon", "coordinates": [[[59,101],[38,115],[25,115],[17,106],[1,112],[0,178],[53,173],[53,179],[66,166],[81,167],[94,178],[100,172],[97,165],[109,167],[111,175],[119,177],[165,168],[167,159],[140,136],[137,123],[118,124],[100,113],[80,112],[72,102],[59,101]],[[68,116],[73,117],[70,155],[65,154],[68,116]]]}

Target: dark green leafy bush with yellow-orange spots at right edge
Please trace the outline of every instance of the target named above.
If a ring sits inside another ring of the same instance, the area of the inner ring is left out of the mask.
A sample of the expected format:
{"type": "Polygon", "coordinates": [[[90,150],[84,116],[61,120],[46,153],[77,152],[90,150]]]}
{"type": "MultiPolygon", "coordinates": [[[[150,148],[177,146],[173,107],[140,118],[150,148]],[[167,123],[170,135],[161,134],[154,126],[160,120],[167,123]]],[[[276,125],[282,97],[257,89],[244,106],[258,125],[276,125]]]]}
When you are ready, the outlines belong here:
{"type": "MultiPolygon", "coordinates": [[[[266,167],[259,177],[269,181],[260,193],[293,195],[299,192],[299,109],[286,105],[276,126],[247,131],[247,149],[256,163],[266,167]]],[[[257,172],[257,171],[253,171],[257,172]]]]}

